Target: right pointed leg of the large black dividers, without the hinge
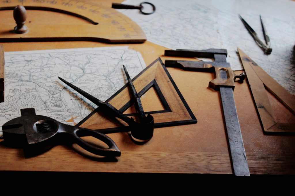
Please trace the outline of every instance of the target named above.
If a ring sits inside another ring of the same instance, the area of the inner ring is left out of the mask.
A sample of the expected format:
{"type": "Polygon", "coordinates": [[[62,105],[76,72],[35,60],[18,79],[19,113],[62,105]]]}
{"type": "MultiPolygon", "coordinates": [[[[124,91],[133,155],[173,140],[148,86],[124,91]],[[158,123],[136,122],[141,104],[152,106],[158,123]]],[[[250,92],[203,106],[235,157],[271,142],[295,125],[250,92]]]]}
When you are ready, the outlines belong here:
{"type": "Polygon", "coordinates": [[[136,89],[133,85],[133,82],[128,74],[128,71],[126,69],[126,67],[123,65],[123,68],[124,68],[124,72],[125,72],[125,75],[126,75],[126,78],[127,78],[127,81],[128,81],[128,85],[130,87],[130,90],[131,90],[131,94],[132,94],[132,98],[134,100],[134,105],[135,105],[135,109],[137,110],[138,114],[139,114],[139,118],[140,118],[140,121],[142,122],[142,119],[145,118],[145,112],[143,111],[143,108],[142,108],[142,103],[141,103],[141,100],[140,100],[140,97],[138,96],[137,92],[136,92],[136,89]]]}

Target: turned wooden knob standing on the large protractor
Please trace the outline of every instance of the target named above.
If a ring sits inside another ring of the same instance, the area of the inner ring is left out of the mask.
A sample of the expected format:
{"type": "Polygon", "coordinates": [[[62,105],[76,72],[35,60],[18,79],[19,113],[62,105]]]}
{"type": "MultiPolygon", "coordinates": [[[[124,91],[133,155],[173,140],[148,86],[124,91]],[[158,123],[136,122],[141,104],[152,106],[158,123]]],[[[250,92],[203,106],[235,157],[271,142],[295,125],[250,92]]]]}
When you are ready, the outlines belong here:
{"type": "Polygon", "coordinates": [[[22,5],[18,5],[13,10],[13,18],[15,20],[15,23],[17,24],[16,27],[14,27],[15,33],[27,33],[29,29],[25,25],[26,19],[27,19],[27,11],[22,5]]]}

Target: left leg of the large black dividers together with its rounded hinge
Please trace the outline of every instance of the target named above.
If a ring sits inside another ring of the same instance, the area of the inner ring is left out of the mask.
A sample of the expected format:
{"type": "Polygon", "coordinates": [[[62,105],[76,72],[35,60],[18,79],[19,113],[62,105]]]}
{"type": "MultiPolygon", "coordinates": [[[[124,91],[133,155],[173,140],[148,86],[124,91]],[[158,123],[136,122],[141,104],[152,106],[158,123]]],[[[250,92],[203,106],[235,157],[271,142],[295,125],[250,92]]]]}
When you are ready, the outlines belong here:
{"type": "Polygon", "coordinates": [[[150,122],[136,122],[133,118],[129,118],[127,115],[123,114],[119,110],[117,110],[114,106],[112,106],[109,103],[105,103],[94,96],[90,95],[89,93],[86,93],[82,89],[74,86],[73,84],[65,81],[63,78],[58,77],[61,81],[63,81],[65,84],[73,88],[75,91],[80,93],[82,96],[89,99],[91,102],[96,104],[101,108],[101,111],[108,115],[111,118],[117,117],[121,120],[123,120],[125,123],[127,123],[130,127],[131,135],[133,138],[136,138],[138,141],[147,141],[150,140],[153,137],[154,133],[154,126],[151,126],[150,122]]]}

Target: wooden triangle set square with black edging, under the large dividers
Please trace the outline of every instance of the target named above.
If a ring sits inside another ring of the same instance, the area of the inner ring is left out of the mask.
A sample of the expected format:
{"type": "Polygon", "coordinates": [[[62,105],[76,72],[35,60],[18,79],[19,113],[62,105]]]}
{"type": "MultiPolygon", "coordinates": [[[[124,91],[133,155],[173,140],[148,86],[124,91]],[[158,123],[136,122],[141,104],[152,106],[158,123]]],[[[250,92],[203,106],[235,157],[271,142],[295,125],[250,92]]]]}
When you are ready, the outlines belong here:
{"type": "MultiPolygon", "coordinates": [[[[145,112],[154,117],[155,128],[197,123],[188,104],[184,100],[168,70],[160,58],[156,59],[147,68],[132,79],[139,96],[150,88],[154,88],[164,110],[145,112]]],[[[106,100],[115,108],[124,112],[133,105],[127,84],[106,100]]],[[[127,114],[138,120],[135,113],[127,114]]],[[[97,108],[76,126],[100,129],[103,133],[128,131],[128,125],[120,119],[110,119],[97,108]]]]}

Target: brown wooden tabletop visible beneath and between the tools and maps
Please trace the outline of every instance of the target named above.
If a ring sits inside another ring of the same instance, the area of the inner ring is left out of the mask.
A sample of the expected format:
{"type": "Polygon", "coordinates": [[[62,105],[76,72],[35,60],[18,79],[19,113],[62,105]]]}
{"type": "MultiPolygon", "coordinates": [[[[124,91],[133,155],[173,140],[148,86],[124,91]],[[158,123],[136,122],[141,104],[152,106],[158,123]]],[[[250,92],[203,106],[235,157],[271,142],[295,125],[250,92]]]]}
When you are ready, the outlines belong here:
{"type": "MultiPolygon", "coordinates": [[[[62,17],[64,20],[68,18],[72,20],[72,16],[62,17]]],[[[3,45],[5,51],[123,46],[123,44],[109,45],[90,41],[3,43],[3,45]]],[[[158,57],[162,61],[194,60],[194,58],[166,57],[164,50],[168,48],[148,41],[128,46],[142,54],[146,65],[158,57]]],[[[0,140],[0,170],[231,174],[232,167],[219,92],[208,87],[209,81],[214,79],[214,74],[184,71],[178,68],[167,69],[196,116],[197,124],[157,128],[154,130],[153,138],[144,145],[133,143],[128,133],[108,134],[122,152],[121,157],[117,159],[90,155],[76,145],[56,146],[42,155],[26,158],[22,149],[10,148],[5,141],[0,140]]],[[[236,72],[237,75],[240,73],[236,72]]],[[[235,102],[250,174],[295,174],[295,136],[263,133],[248,83],[235,83],[235,85],[235,102]]],[[[270,93],[267,93],[267,96],[277,119],[295,122],[294,115],[287,108],[270,93]]],[[[155,98],[152,91],[142,97],[145,110],[153,111],[155,106],[161,107],[159,100],[155,98]]],[[[92,141],[91,137],[86,139],[92,141]]]]}

